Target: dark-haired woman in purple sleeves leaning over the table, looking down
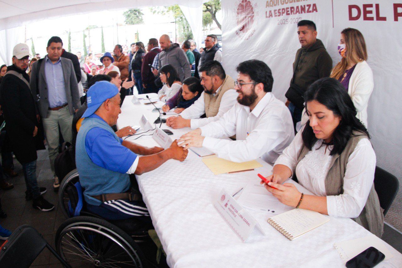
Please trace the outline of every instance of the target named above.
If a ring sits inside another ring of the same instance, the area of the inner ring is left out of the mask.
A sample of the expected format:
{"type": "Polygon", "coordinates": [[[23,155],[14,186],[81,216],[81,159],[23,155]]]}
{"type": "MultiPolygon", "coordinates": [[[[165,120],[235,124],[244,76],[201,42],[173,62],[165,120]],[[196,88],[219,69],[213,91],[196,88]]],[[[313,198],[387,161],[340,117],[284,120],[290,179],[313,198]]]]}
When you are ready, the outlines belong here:
{"type": "Polygon", "coordinates": [[[164,112],[169,111],[173,107],[175,113],[181,113],[186,108],[190,107],[194,101],[196,101],[201,93],[204,91],[200,80],[196,77],[189,77],[183,81],[183,86],[177,93],[166,101],[166,104],[162,106],[164,112]]]}

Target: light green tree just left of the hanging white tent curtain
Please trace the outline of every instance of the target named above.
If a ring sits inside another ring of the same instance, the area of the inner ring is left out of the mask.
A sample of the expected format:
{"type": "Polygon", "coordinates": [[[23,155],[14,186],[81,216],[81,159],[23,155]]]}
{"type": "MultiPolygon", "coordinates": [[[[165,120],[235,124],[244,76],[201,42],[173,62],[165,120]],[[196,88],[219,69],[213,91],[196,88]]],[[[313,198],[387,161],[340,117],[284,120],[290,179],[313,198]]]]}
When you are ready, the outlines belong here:
{"type": "Polygon", "coordinates": [[[160,6],[156,8],[150,8],[152,13],[154,14],[171,14],[176,22],[176,28],[178,28],[178,35],[176,39],[180,41],[184,41],[187,39],[193,39],[193,32],[191,31],[191,27],[183,12],[180,9],[180,6],[160,6]]]}

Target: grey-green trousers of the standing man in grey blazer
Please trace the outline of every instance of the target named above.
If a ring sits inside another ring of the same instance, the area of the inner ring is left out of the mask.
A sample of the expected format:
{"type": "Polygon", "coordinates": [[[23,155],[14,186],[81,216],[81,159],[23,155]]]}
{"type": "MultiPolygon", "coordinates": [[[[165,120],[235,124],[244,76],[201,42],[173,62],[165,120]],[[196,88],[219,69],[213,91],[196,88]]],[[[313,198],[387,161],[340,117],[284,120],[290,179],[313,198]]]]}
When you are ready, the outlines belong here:
{"type": "MultiPolygon", "coordinates": [[[[70,142],[72,139],[71,125],[73,116],[70,114],[68,105],[57,111],[47,111],[47,118],[43,118],[43,128],[46,134],[46,141],[49,150],[50,168],[54,172],[54,160],[59,154],[59,126],[62,131],[64,141],[70,142]]],[[[63,178],[60,178],[63,179],[63,178]]]]}

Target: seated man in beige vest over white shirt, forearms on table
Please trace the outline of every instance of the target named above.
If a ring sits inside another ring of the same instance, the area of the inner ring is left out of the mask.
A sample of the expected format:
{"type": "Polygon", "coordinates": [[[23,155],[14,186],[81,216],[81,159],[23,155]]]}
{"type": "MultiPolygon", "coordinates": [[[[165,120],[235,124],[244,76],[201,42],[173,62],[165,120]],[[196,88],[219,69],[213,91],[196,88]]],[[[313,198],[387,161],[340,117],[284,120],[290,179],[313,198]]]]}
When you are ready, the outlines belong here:
{"type": "Polygon", "coordinates": [[[234,90],[234,80],[225,73],[216,60],[205,62],[199,69],[204,92],[179,116],[171,116],[166,124],[174,129],[200,128],[218,120],[236,103],[238,93],[234,90]],[[206,118],[200,118],[205,113],[206,118]]]}

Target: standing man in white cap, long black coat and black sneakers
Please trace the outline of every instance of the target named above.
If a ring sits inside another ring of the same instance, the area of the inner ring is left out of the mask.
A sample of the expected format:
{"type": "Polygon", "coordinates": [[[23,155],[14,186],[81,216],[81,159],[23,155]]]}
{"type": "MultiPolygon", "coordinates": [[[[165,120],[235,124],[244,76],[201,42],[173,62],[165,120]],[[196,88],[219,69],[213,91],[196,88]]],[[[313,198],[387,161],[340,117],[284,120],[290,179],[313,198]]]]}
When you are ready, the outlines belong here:
{"type": "Polygon", "coordinates": [[[0,84],[0,100],[10,136],[10,145],[16,159],[23,166],[27,191],[25,198],[33,199],[33,207],[42,211],[53,210],[41,194],[46,188],[39,188],[36,179],[36,150],[45,149],[43,132],[40,131],[35,110],[35,101],[29,89],[27,70],[30,55],[26,44],[14,47],[12,65],[0,84]],[[38,131],[39,130],[39,131],[38,131]]]}

